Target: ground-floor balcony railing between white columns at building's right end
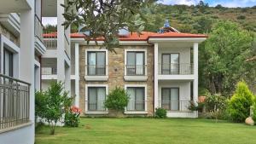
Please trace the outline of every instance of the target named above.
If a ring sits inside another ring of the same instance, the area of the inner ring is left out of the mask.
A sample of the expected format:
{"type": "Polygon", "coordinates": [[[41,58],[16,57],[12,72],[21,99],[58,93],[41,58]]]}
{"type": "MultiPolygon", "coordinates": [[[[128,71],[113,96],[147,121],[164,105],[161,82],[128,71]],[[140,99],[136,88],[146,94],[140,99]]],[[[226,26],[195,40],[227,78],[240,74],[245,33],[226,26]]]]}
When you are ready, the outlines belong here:
{"type": "Polygon", "coordinates": [[[159,106],[172,112],[190,112],[192,101],[159,101],[159,106]]]}

